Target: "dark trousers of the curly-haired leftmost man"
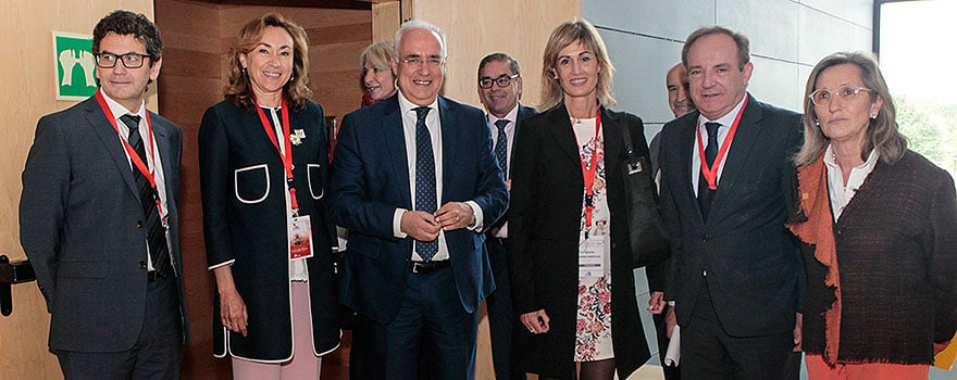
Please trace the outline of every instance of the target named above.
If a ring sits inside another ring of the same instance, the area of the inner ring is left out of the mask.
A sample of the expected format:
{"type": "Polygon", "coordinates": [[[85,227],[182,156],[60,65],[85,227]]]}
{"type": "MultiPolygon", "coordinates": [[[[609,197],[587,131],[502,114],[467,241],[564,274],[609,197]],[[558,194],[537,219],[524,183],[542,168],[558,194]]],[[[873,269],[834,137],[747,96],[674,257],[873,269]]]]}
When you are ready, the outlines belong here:
{"type": "Polygon", "coordinates": [[[172,274],[149,282],[142,331],[129,350],[115,353],[57,351],[64,378],[179,379],[183,322],[176,293],[176,278],[172,274]]]}

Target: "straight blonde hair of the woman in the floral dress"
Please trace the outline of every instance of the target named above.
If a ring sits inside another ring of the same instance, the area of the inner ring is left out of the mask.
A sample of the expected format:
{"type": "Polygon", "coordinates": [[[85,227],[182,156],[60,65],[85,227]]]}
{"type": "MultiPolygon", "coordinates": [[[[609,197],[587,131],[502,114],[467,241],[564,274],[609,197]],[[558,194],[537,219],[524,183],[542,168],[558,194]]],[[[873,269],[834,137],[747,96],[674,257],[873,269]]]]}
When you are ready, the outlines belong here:
{"type": "Polygon", "coordinates": [[[608,49],[605,40],[595,29],[592,23],[583,18],[572,18],[551,30],[548,42],[545,45],[545,54],[542,56],[542,109],[549,110],[561,103],[563,92],[561,84],[556,79],[556,63],[561,49],[581,41],[581,43],[595,53],[598,59],[598,86],[596,92],[598,103],[605,107],[613,106],[618,101],[611,96],[611,81],[614,76],[614,66],[608,59],[608,49]]]}

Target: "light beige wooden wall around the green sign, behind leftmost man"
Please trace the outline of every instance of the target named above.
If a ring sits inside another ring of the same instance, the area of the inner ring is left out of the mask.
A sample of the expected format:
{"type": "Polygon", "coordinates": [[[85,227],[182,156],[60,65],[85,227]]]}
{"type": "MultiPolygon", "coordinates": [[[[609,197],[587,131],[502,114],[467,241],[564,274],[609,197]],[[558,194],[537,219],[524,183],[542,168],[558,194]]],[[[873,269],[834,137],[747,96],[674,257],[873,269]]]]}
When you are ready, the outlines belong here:
{"type": "MultiPolygon", "coordinates": [[[[76,102],[57,101],[51,30],[92,34],[94,25],[115,9],[153,14],[151,0],[8,0],[0,8],[0,254],[23,259],[20,246],[20,175],[34,140],[37,119],[76,102]]],[[[153,86],[154,87],[154,86],[153,86]]],[[[150,109],[156,110],[151,93],[150,109]]],[[[13,286],[13,314],[0,317],[0,379],[62,378],[47,350],[50,316],[35,282],[13,286]]]]}

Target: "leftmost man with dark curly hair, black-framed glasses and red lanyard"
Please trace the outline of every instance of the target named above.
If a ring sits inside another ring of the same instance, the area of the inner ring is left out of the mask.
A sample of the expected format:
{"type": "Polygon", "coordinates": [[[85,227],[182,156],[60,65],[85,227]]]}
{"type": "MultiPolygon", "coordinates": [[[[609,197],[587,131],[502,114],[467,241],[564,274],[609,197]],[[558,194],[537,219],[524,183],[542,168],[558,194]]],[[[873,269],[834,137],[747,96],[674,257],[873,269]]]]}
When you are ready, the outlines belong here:
{"type": "Polygon", "coordinates": [[[189,324],[176,200],[183,135],[146,110],[163,42],[142,14],[94,28],[96,96],[40,118],[21,242],[66,379],[178,379],[189,324]]]}

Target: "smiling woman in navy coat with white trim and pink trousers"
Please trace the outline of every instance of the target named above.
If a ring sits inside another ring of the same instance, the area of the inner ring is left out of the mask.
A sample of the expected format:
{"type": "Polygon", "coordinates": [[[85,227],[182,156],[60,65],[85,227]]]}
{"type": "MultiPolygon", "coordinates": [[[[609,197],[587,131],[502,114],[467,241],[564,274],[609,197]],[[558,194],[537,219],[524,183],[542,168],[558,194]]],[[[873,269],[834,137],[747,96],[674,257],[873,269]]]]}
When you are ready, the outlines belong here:
{"type": "Polygon", "coordinates": [[[306,33],[266,14],[231,54],[226,100],[199,131],[214,355],[233,356],[236,379],[316,378],[340,331],[328,141],[322,107],[308,99],[306,33]]]}

